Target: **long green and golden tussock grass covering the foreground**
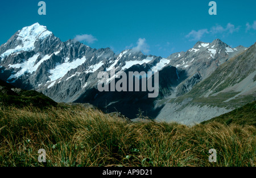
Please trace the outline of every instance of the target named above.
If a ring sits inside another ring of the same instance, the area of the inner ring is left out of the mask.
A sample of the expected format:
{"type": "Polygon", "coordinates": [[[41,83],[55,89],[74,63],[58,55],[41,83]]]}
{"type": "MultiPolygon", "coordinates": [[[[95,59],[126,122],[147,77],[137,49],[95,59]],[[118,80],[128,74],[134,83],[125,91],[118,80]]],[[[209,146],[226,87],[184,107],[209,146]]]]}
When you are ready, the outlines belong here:
{"type": "Polygon", "coordinates": [[[0,166],[255,166],[255,126],[129,122],[80,106],[0,107],[0,166]],[[38,150],[46,150],[46,163],[38,150]],[[217,162],[210,163],[209,149],[217,162]]]}

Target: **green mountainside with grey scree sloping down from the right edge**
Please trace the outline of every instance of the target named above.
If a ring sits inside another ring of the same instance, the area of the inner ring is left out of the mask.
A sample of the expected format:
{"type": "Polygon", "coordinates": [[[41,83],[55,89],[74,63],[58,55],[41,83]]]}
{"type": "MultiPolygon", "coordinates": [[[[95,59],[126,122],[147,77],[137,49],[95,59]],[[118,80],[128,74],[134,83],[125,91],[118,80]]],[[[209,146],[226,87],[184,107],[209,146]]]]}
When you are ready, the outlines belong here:
{"type": "Polygon", "coordinates": [[[190,92],[166,101],[159,120],[202,122],[250,103],[256,97],[256,43],[218,67],[190,92]]]}

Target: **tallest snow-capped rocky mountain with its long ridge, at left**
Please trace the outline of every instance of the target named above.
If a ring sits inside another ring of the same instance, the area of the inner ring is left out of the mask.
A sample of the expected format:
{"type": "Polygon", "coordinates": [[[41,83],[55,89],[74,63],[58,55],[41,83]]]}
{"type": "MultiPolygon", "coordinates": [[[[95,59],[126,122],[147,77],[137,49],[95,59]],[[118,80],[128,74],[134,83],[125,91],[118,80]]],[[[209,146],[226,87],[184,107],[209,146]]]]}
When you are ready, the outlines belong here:
{"type": "Polygon", "coordinates": [[[130,117],[137,114],[141,100],[149,111],[154,107],[154,102],[147,100],[148,92],[99,92],[98,72],[106,71],[110,75],[113,68],[115,73],[161,71],[159,78],[163,86],[159,86],[159,98],[171,95],[179,83],[177,69],[166,58],[146,56],[131,49],[114,54],[110,48],[92,49],[75,40],[62,42],[38,23],[16,32],[0,46],[0,54],[0,78],[16,87],[43,92],[58,102],[108,106],[108,111],[131,113],[130,117]],[[121,100],[134,103],[126,103],[133,112],[114,104],[121,100]]]}

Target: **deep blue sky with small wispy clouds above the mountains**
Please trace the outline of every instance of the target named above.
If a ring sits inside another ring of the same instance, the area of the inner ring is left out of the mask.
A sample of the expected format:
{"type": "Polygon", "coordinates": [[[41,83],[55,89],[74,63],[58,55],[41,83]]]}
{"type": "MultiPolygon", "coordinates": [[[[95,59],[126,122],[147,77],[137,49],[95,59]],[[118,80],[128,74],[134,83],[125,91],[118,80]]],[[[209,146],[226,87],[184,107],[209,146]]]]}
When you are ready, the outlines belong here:
{"type": "Polygon", "coordinates": [[[228,45],[250,46],[256,39],[256,1],[218,0],[45,0],[38,15],[36,0],[0,1],[0,44],[19,29],[36,22],[61,39],[78,39],[92,48],[127,48],[167,57],[187,51],[197,41],[221,39],[228,45]]]}

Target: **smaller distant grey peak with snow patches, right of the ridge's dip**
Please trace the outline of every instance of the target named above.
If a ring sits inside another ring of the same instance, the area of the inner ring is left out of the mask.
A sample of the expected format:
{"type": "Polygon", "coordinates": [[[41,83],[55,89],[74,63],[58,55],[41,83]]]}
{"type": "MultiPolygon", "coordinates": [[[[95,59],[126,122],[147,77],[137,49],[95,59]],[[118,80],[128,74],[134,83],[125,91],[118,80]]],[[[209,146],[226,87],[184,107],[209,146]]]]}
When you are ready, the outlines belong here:
{"type": "Polygon", "coordinates": [[[220,39],[212,43],[197,42],[187,52],[174,53],[168,57],[171,65],[185,69],[188,75],[200,72],[203,79],[209,77],[222,63],[245,50],[245,47],[231,48],[220,39]]]}

